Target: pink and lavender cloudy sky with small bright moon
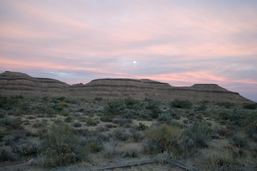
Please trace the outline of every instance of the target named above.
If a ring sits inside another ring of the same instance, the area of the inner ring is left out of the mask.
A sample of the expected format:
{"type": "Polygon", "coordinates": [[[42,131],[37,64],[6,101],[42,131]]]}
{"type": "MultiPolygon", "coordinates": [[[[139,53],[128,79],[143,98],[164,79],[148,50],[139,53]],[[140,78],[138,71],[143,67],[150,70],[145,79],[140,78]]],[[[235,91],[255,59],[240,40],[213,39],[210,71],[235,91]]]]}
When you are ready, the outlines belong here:
{"type": "Polygon", "coordinates": [[[1,0],[0,72],[218,84],[257,102],[257,1],[1,0]]]}

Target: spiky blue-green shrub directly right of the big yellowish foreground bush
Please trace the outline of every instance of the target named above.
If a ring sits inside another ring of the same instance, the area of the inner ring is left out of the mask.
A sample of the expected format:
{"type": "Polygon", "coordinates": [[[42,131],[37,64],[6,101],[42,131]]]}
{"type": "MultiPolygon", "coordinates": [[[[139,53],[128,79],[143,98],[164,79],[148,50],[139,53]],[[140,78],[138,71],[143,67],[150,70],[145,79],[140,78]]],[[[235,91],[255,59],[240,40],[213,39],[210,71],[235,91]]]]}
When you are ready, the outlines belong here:
{"type": "Polygon", "coordinates": [[[191,124],[187,126],[186,134],[194,142],[194,145],[206,147],[212,129],[207,125],[191,124]]]}

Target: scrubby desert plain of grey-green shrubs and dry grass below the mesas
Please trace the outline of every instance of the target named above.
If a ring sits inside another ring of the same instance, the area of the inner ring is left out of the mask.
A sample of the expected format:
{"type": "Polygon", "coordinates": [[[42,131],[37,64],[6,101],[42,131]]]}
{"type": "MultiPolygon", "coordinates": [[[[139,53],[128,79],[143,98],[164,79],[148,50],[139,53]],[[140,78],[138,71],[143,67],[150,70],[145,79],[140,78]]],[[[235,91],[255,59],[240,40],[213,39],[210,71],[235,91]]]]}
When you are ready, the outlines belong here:
{"type": "MultiPolygon", "coordinates": [[[[160,165],[163,158],[193,167],[256,165],[256,103],[0,96],[7,170],[18,161],[27,162],[24,170],[53,170],[153,158],[160,165]]],[[[134,170],[143,167],[157,164],[134,170]]]]}

